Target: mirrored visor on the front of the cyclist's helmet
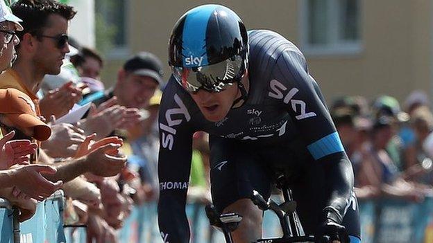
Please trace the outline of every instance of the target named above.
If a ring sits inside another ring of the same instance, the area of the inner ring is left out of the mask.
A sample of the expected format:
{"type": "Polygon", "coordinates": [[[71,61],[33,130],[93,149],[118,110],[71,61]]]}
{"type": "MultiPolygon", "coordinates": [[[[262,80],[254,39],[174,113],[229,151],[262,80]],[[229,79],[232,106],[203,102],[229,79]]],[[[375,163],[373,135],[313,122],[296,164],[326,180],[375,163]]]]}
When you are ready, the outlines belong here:
{"type": "Polygon", "coordinates": [[[188,92],[197,93],[199,89],[221,92],[237,82],[244,60],[240,55],[209,66],[182,67],[172,66],[176,81],[188,92]]]}

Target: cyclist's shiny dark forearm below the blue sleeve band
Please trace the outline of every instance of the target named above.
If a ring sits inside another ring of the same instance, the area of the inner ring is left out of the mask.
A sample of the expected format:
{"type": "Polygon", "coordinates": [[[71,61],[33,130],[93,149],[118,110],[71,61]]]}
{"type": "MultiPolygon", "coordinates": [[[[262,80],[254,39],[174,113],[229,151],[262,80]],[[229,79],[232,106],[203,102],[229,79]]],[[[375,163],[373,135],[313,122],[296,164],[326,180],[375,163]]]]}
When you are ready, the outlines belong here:
{"type": "Polygon", "coordinates": [[[353,192],[353,168],[345,153],[328,156],[318,161],[325,172],[326,205],[323,217],[341,223],[353,192]]]}

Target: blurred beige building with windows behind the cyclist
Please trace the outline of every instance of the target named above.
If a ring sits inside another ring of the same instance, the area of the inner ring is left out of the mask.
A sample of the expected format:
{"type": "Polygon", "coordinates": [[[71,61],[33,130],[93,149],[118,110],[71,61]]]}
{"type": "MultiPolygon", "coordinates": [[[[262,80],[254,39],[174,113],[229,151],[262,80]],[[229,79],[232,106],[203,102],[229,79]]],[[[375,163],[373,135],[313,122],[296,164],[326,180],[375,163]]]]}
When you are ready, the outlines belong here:
{"type": "Polygon", "coordinates": [[[221,3],[247,28],[275,30],[294,42],[328,100],[381,93],[401,100],[413,89],[433,93],[433,1],[427,0],[95,0],[96,32],[117,28],[111,39],[102,38],[112,44],[103,51],[104,82],[114,82],[122,61],[137,51],[151,51],[167,64],[173,25],[203,3],[221,3]]]}

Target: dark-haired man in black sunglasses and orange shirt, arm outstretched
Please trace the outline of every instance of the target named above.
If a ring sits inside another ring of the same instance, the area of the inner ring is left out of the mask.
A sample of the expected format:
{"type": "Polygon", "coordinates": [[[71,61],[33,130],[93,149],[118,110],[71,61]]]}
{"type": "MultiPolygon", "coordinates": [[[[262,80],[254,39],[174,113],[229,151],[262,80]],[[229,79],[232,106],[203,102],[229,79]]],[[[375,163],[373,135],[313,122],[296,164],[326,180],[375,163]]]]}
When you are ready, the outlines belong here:
{"type": "MultiPolygon", "coordinates": [[[[65,36],[67,21],[74,16],[75,12],[69,6],[49,0],[22,0],[15,3],[12,9],[16,15],[22,17],[22,24],[26,31],[18,35],[22,42],[18,48],[17,62],[14,63],[13,69],[0,75],[0,88],[14,88],[31,97],[27,100],[28,105],[34,108],[37,116],[40,116],[35,92],[45,73],[56,74],[60,71],[61,60],[68,51],[65,36]],[[54,35],[56,38],[53,37],[54,35]]],[[[22,100],[22,98],[16,97],[15,100],[22,100]]],[[[15,125],[21,127],[19,124],[15,125]]],[[[26,135],[27,138],[31,136],[26,135]]],[[[106,152],[117,150],[119,147],[120,145],[114,143],[103,145],[79,159],[56,163],[56,174],[46,177],[51,181],[69,181],[85,172],[93,172],[101,176],[117,174],[123,168],[126,158],[116,154],[108,155],[106,152]]],[[[35,161],[37,158],[33,160],[35,161]]],[[[42,150],[40,150],[40,161],[53,163],[53,159],[46,156],[42,150]]]]}

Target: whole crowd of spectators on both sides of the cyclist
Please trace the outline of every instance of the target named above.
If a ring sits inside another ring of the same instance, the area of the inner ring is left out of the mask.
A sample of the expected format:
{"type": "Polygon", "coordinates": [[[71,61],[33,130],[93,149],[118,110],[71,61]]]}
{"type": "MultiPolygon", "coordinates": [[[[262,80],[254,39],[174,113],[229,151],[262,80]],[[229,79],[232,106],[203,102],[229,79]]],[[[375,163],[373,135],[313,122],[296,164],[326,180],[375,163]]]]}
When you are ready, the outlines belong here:
{"type": "MultiPolygon", "coordinates": [[[[61,189],[65,224],[86,224],[88,242],[117,242],[132,207],[158,199],[162,63],[137,53],[105,88],[103,57],[67,36],[75,14],[53,0],[0,1],[0,197],[24,222],[61,189]]],[[[433,192],[430,101],[414,91],[402,107],[390,96],[330,105],[359,199],[422,201],[433,192]]],[[[207,204],[207,135],[194,134],[193,147],[189,200],[207,204]]]]}

